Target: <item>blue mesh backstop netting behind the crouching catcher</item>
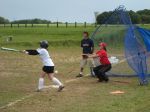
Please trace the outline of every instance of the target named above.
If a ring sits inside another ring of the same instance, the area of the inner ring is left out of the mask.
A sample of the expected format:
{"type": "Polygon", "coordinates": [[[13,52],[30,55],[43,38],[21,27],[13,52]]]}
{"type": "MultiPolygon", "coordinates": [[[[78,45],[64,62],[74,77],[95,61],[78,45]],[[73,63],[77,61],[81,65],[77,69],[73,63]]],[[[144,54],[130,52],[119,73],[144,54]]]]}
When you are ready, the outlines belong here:
{"type": "Polygon", "coordinates": [[[108,44],[111,55],[120,62],[113,65],[110,75],[133,77],[138,76],[140,84],[148,82],[148,57],[150,51],[150,31],[134,26],[124,6],[119,6],[112,14],[101,22],[91,38],[95,45],[103,41],[108,44]],[[145,36],[146,35],[146,36],[145,36]]]}

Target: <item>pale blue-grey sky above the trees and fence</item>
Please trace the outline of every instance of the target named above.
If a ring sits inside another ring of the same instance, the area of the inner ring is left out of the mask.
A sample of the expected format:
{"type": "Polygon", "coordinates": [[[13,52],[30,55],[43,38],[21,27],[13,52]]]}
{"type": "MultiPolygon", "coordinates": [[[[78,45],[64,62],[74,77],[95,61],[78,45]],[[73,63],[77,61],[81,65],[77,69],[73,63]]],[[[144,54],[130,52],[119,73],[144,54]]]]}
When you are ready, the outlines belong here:
{"type": "Polygon", "coordinates": [[[0,16],[10,21],[41,18],[61,22],[95,22],[94,12],[150,9],[150,0],[0,0],[0,16]]]}

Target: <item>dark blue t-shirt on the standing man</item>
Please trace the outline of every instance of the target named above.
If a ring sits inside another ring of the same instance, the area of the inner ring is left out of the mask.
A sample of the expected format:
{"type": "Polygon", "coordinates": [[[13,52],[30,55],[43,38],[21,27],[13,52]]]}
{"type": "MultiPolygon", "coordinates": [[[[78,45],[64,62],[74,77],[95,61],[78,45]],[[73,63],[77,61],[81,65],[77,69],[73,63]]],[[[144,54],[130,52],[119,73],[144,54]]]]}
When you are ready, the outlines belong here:
{"type": "Polygon", "coordinates": [[[83,48],[83,54],[92,54],[92,47],[94,47],[93,40],[91,39],[82,39],[81,47],[83,48]]]}

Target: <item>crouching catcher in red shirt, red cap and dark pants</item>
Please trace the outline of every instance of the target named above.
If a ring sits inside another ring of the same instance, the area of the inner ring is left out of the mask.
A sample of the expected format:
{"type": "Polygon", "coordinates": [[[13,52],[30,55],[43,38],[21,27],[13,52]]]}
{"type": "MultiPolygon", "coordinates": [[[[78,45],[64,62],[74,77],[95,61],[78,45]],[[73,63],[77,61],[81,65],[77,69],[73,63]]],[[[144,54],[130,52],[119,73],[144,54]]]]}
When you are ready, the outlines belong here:
{"type": "Polygon", "coordinates": [[[99,82],[105,81],[108,82],[108,76],[105,74],[109,70],[111,70],[111,63],[107,56],[106,44],[99,44],[100,50],[96,52],[96,54],[89,55],[89,58],[99,58],[101,65],[94,67],[94,73],[99,79],[99,82]]]}

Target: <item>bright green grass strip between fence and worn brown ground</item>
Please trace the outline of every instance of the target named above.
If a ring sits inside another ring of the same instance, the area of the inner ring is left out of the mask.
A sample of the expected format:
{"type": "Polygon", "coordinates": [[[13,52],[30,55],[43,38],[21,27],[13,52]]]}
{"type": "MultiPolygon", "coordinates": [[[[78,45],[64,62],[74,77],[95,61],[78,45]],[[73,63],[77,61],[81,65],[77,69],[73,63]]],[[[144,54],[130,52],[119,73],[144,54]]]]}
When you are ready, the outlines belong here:
{"type": "MultiPolygon", "coordinates": [[[[92,32],[94,27],[90,28],[1,28],[0,43],[7,45],[6,38],[13,36],[13,42],[8,45],[20,44],[21,46],[35,46],[40,40],[46,39],[51,46],[75,44],[79,45],[82,32],[86,30],[92,32]]],[[[18,47],[18,46],[17,46],[18,47]]]]}

